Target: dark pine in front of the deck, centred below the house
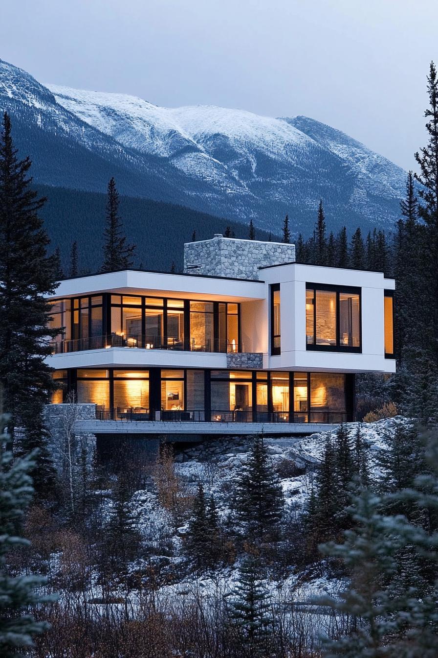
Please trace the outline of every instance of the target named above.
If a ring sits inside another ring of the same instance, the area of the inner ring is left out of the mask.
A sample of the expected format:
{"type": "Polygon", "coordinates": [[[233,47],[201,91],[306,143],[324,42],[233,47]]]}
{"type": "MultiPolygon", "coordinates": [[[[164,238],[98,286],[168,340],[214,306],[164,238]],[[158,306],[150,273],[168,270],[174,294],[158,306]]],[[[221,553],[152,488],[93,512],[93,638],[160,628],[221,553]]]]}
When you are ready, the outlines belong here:
{"type": "Polygon", "coordinates": [[[254,439],[250,457],[236,480],[234,508],[255,540],[278,536],[284,497],[260,436],[254,439]]]}

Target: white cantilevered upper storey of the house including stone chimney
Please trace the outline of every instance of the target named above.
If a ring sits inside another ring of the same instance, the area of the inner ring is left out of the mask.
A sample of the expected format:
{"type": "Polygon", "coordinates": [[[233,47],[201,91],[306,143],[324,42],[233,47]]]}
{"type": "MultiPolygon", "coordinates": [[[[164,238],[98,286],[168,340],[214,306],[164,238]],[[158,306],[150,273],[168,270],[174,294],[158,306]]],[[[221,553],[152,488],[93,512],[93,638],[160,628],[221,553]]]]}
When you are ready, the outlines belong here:
{"type": "Polygon", "coordinates": [[[50,365],[394,372],[395,282],[294,253],[216,236],[186,245],[183,274],[64,280],[50,300],[50,365]]]}

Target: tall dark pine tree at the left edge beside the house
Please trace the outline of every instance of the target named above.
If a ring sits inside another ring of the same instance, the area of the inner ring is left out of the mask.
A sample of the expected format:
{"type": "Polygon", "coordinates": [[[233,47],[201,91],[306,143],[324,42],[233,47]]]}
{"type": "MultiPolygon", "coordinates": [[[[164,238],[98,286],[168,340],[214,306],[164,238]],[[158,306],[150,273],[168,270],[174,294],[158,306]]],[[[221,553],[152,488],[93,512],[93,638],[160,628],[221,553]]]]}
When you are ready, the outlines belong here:
{"type": "Polygon", "coordinates": [[[17,158],[5,113],[0,133],[0,384],[11,442],[19,439],[23,454],[39,448],[32,476],[37,493],[48,495],[55,470],[43,406],[55,385],[45,358],[58,330],[47,327],[51,307],[46,297],[55,293],[56,259],[47,255],[49,238],[39,217],[45,199],[31,187],[30,166],[29,158],[17,158]]]}

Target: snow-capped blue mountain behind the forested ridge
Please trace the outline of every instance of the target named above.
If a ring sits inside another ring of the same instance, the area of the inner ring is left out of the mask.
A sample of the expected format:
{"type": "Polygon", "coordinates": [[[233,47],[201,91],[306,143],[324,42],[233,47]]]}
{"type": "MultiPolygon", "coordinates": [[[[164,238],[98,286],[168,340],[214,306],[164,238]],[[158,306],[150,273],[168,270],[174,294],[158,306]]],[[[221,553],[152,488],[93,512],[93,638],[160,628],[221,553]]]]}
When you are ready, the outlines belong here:
{"type": "Polygon", "coordinates": [[[110,173],[122,193],[253,218],[273,232],[289,213],[294,231],[309,234],[320,198],[334,230],[387,226],[405,189],[401,168],[304,116],[158,107],[129,95],[43,86],[1,61],[0,107],[26,132],[37,180],[102,191],[110,173]]]}

